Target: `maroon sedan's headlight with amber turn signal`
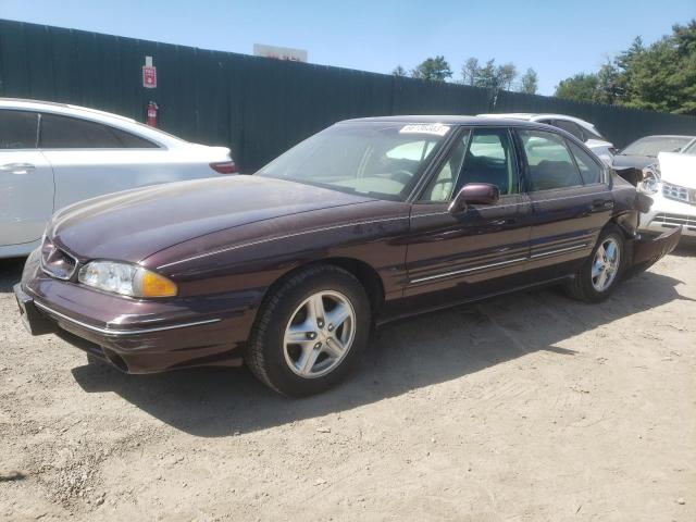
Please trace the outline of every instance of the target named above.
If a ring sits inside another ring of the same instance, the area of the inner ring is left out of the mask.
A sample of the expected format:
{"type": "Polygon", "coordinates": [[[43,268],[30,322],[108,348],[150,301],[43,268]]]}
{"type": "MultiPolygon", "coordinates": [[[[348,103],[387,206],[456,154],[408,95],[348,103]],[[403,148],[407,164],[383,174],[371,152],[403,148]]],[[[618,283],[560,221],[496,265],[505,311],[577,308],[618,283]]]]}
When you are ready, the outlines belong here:
{"type": "Polygon", "coordinates": [[[142,266],[115,261],[92,261],[79,270],[86,286],[130,297],[172,297],[176,285],[142,266]]]}

